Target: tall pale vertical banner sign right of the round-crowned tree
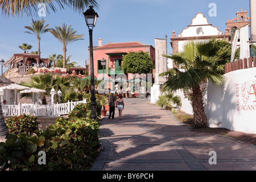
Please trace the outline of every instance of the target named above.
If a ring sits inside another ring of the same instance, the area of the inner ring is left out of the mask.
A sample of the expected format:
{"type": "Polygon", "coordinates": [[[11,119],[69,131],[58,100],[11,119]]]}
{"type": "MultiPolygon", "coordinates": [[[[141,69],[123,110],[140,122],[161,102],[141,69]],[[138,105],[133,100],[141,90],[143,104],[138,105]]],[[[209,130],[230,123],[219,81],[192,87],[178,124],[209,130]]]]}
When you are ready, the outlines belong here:
{"type": "Polygon", "coordinates": [[[166,78],[159,77],[160,73],[167,71],[167,55],[166,39],[155,39],[155,83],[164,84],[166,78]]]}

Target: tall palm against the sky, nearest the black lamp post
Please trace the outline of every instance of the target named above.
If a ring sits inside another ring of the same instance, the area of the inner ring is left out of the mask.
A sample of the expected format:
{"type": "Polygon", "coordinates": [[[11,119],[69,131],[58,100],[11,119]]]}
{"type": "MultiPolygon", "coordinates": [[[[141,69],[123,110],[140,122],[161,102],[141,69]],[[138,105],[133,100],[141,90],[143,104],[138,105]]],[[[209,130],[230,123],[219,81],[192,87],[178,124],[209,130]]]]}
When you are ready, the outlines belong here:
{"type": "Polygon", "coordinates": [[[84,40],[82,39],[84,35],[76,34],[77,31],[73,30],[71,25],[67,28],[67,24],[65,23],[62,24],[62,27],[55,26],[55,29],[51,28],[49,32],[51,32],[63,46],[63,68],[66,68],[66,52],[68,44],[76,42],[77,40],[84,40]]]}

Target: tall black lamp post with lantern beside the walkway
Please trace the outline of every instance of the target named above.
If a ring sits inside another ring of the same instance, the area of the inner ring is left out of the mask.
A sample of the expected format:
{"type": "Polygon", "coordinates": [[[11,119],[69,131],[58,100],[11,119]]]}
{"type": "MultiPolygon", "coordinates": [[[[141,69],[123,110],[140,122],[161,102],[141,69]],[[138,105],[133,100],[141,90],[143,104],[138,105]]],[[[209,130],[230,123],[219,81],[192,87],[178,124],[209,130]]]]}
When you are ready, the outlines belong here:
{"type": "Polygon", "coordinates": [[[89,29],[89,38],[90,38],[90,105],[92,108],[92,113],[90,114],[90,118],[96,119],[96,97],[95,97],[95,86],[94,86],[94,67],[93,67],[93,40],[92,40],[92,32],[93,27],[95,27],[98,14],[93,10],[93,6],[90,6],[88,10],[84,13],[85,22],[89,29]]]}

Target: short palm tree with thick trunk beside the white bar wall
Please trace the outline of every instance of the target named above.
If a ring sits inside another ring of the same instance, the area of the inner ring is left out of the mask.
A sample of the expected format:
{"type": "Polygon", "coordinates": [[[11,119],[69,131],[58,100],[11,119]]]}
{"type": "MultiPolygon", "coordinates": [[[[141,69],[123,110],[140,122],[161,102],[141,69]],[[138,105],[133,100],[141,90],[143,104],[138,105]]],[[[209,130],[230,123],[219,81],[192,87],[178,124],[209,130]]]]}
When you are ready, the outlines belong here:
{"type": "Polygon", "coordinates": [[[192,108],[194,127],[207,127],[207,117],[204,113],[203,95],[200,86],[207,81],[222,84],[225,77],[220,74],[223,67],[218,66],[226,57],[230,57],[231,50],[219,51],[215,56],[209,56],[209,50],[216,42],[215,39],[200,40],[185,44],[184,51],[176,55],[163,55],[185,71],[173,68],[163,72],[160,76],[167,76],[162,92],[172,92],[179,89],[192,90],[192,108]]]}

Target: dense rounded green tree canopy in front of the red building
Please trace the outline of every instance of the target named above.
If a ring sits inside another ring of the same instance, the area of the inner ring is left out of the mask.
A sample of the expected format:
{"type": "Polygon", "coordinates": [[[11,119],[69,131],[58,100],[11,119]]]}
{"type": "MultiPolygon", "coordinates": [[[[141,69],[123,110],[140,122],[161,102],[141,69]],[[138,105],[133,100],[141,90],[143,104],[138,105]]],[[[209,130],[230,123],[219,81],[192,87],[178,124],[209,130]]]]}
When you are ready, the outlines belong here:
{"type": "Polygon", "coordinates": [[[150,73],[153,68],[151,57],[148,52],[129,52],[123,56],[122,71],[125,73],[150,73]]]}

